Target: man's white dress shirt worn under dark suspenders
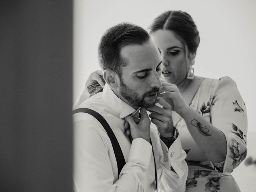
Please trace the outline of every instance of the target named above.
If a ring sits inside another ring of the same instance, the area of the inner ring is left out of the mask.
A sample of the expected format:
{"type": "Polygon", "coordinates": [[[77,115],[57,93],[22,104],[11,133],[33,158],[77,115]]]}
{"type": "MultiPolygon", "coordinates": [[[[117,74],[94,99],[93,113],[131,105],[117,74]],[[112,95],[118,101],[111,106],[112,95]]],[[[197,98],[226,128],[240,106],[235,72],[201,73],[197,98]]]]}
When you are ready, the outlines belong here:
{"type": "MultiPolygon", "coordinates": [[[[118,98],[107,84],[103,92],[88,98],[75,108],[90,108],[105,118],[120,144],[126,164],[118,177],[114,150],[102,125],[90,114],[74,114],[74,190],[156,191],[152,146],[142,138],[136,138],[131,143],[124,133],[124,117],[136,110],[118,98]]],[[[151,124],[150,138],[156,161],[158,191],[184,192],[188,166],[180,138],[176,138],[168,149],[160,140],[154,124],[151,124]],[[176,173],[170,170],[170,166],[176,173]]]]}

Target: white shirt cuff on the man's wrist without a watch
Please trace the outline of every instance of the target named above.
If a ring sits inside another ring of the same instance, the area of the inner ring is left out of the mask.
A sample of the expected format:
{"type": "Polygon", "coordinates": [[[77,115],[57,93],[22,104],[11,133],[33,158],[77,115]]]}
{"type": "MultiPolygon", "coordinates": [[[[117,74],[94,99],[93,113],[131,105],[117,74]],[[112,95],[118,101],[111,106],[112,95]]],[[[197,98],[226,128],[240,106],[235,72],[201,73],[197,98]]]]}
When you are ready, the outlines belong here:
{"type": "Polygon", "coordinates": [[[129,160],[137,159],[141,160],[149,166],[150,158],[152,154],[152,146],[149,142],[142,138],[136,138],[132,140],[132,146],[130,148],[129,160]]]}

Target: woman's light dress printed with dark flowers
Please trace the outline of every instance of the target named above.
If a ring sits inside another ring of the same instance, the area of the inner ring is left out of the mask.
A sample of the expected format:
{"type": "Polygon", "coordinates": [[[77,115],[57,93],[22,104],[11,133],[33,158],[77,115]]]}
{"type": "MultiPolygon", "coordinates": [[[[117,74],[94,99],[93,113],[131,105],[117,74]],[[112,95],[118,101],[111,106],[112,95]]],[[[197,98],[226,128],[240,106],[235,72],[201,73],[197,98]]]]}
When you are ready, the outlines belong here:
{"type": "Polygon", "coordinates": [[[207,160],[188,132],[185,121],[173,112],[178,117],[174,119],[174,125],[187,153],[186,192],[240,192],[230,173],[246,157],[247,114],[236,83],[229,77],[218,80],[205,78],[190,107],[224,133],[227,155],[224,162],[207,160]]]}

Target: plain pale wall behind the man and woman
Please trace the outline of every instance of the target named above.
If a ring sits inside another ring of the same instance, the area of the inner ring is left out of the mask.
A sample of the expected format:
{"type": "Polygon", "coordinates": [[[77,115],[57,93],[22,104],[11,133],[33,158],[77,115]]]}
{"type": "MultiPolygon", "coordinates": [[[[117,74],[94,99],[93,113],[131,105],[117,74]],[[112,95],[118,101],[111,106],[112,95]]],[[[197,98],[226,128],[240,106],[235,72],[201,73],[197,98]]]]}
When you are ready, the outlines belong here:
{"type": "MultiPolygon", "coordinates": [[[[97,48],[106,29],[124,21],[147,28],[166,10],[186,11],[198,26],[195,74],[236,81],[248,113],[248,154],[256,158],[255,0],[74,0],[73,102],[90,73],[100,69],[97,48]]],[[[242,192],[256,192],[255,172],[256,166],[244,164],[234,170],[242,192]]]]}

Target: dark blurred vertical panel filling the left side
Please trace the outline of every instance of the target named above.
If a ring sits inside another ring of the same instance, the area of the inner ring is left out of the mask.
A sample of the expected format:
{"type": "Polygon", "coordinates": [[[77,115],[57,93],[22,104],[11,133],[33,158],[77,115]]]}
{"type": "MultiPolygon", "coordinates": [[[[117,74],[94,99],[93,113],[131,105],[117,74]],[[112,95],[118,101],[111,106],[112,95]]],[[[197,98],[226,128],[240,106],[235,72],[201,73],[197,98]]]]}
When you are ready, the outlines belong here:
{"type": "Polygon", "coordinates": [[[72,191],[72,0],[0,0],[0,191],[72,191]]]}

